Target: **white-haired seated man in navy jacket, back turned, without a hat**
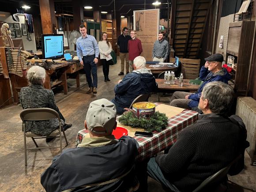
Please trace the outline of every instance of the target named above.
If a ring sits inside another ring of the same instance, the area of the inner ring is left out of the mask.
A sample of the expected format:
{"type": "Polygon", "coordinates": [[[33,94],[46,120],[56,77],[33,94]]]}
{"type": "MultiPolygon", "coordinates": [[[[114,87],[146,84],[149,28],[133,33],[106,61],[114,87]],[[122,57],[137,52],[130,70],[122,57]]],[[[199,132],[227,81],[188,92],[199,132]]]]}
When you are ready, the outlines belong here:
{"type": "Polygon", "coordinates": [[[150,69],[146,68],[143,56],[133,60],[134,71],[124,76],[115,86],[115,98],[111,100],[117,106],[117,114],[124,113],[124,108],[129,108],[133,100],[140,94],[151,93],[157,89],[157,83],[150,69]]]}

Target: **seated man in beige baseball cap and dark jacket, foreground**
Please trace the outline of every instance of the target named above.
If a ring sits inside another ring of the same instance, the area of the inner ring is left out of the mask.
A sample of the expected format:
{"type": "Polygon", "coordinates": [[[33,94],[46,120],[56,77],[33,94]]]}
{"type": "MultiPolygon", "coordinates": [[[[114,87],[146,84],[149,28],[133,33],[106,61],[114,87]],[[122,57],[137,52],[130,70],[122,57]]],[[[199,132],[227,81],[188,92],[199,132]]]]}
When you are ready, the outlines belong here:
{"type": "Polygon", "coordinates": [[[47,192],[123,192],[132,185],[138,187],[139,183],[133,181],[137,181],[134,162],[139,145],[129,136],[115,139],[112,132],[117,127],[116,117],[116,106],[107,99],[90,103],[84,121],[90,137],[53,158],[41,175],[47,192]]]}

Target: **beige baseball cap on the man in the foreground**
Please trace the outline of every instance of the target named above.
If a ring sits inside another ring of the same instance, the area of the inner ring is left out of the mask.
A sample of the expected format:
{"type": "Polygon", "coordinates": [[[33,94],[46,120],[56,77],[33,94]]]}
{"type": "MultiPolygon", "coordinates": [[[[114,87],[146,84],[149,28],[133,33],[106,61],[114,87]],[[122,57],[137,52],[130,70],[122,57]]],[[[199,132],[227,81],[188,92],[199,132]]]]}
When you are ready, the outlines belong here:
{"type": "Polygon", "coordinates": [[[86,115],[86,124],[88,130],[95,134],[112,134],[116,123],[117,109],[116,105],[103,98],[93,101],[89,105],[86,115]],[[94,130],[95,127],[102,127],[104,131],[94,130]]]}

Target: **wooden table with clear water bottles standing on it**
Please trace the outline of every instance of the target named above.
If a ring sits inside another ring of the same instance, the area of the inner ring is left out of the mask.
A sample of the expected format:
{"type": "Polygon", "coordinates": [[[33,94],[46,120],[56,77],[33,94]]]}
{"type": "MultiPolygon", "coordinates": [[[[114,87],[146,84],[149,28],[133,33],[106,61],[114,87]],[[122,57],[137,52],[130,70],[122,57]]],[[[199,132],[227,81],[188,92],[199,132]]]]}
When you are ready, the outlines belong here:
{"type": "Polygon", "coordinates": [[[158,83],[158,90],[188,90],[189,92],[195,92],[198,90],[199,85],[192,85],[189,83],[191,79],[183,79],[183,86],[180,86],[179,80],[175,80],[175,84],[165,84],[164,79],[155,79],[158,83]]]}

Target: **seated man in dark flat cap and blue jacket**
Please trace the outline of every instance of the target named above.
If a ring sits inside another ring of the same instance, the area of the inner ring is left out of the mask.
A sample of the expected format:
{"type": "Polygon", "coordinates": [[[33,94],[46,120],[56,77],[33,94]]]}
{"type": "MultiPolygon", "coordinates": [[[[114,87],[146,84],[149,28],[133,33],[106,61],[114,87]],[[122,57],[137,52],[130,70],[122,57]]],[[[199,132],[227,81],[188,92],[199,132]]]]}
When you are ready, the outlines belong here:
{"type": "Polygon", "coordinates": [[[196,93],[189,93],[184,91],[175,91],[170,100],[170,105],[174,107],[181,107],[184,109],[192,109],[198,106],[199,94],[203,87],[212,81],[222,81],[228,83],[231,75],[226,68],[222,68],[223,56],[221,54],[213,54],[205,58],[206,63],[200,70],[200,79],[203,84],[198,88],[196,93]]]}

